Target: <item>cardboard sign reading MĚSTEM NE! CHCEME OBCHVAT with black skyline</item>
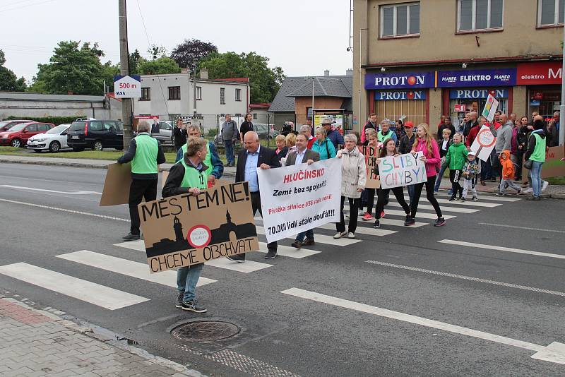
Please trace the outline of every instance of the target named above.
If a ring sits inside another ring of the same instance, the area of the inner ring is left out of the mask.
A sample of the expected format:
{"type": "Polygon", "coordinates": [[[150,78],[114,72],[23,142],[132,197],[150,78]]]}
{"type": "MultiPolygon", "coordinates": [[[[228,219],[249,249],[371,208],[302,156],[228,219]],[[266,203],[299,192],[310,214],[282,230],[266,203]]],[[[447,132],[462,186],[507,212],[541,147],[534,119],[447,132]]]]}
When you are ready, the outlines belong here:
{"type": "Polygon", "coordinates": [[[151,273],[259,249],[247,182],[138,205],[151,273]]]}

